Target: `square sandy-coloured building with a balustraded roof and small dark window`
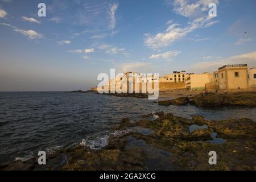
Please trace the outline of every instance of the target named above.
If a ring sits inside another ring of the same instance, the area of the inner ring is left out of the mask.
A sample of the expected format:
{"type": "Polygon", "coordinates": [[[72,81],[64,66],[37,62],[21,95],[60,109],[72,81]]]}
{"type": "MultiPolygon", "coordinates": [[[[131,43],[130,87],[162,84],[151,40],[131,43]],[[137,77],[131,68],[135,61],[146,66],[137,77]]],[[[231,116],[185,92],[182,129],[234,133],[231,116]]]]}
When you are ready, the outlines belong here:
{"type": "Polygon", "coordinates": [[[221,91],[246,91],[249,89],[247,64],[224,65],[218,68],[221,91]]]}

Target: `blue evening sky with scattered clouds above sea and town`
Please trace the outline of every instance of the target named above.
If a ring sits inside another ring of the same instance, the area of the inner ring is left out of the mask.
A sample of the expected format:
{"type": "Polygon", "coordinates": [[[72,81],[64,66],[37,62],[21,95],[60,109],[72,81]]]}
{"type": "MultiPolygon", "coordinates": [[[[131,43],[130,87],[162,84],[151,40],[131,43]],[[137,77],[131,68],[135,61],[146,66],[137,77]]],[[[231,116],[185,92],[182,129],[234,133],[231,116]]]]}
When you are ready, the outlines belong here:
{"type": "Polygon", "coordinates": [[[256,67],[255,7],[255,0],[0,0],[0,91],[87,90],[111,68],[167,75],[256,67]],[[41,2],[46,17],[38,16],[41,2]]]}

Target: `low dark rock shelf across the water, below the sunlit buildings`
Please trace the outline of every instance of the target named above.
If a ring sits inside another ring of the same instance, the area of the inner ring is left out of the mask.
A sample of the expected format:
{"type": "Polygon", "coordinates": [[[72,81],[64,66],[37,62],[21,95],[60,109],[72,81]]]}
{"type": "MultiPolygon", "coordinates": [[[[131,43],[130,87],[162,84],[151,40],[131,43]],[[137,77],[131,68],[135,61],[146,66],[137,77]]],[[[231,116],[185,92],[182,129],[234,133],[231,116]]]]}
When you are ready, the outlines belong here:
{"type": "Polygon", "coordinates": [[[186,105],[192,104],[199,107],[216,106],[256,106],[256,92],[238,93],[208,93],[192,97],[179,97],[174,100],[159,101],[159,105],[186,105]]]}

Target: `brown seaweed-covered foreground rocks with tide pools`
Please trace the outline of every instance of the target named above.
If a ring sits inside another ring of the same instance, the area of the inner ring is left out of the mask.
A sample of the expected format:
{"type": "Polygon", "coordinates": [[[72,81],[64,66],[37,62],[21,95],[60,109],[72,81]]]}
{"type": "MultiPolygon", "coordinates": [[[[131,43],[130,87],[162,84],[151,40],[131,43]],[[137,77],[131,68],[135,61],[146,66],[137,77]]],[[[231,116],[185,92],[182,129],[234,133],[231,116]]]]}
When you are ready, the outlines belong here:
{"type": "Polygon", "coordinates": [[[123,118],[109,143],[91,150],[82,141],[47,156],[0,166],[2,170],[255,170],[256,123],[251,119],[208,121],[171,113],[150,113],[138,121],[123,118]],[[209,165],[209,151],[217,164],[209,165]]]}

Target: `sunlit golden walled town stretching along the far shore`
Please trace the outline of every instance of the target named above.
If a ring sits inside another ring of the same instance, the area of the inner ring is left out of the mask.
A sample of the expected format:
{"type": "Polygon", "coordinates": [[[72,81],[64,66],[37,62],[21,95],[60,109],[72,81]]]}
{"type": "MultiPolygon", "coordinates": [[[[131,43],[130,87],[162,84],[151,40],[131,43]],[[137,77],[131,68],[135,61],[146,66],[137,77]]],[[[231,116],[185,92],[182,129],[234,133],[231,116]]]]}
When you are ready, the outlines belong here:
{"type": "MultiPolygon", "coordinates": [[[[127,85],[129,84],[129,76],[141,76],[141,73],[126,72],[127,85]]],[[[147,79],[147,83],[150,80],[147,79]]],[[[158,81],[159,92],[168,92],[170,90],[184,89],[191,91],[206,91],[206,92],[247,92],[256,90],[256,68],[248,68],[247,64],[230,64],[218,68],[218,71],[213,73],[204,72],[200,74],[186,73],[186,71],[174,71],[172,74],[158,77],[152,77],[152,83],[158,81]]],[[[115,77],[109,80],[108,84],[104,85],[110,90],[110,85],[115,86],[122,82],[122,78],[115,77]]],[[[142,92],[140,82],[139,92],[142,92]]],[[[135,85],[133,87],[135,91],[135,85]]],[[[127,92],[129,86],[127,86],[127,92]]],[[[92,91],[97,91],[92,88],[92,91]]]]}

